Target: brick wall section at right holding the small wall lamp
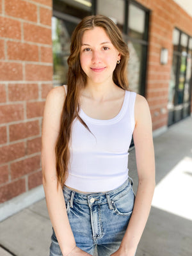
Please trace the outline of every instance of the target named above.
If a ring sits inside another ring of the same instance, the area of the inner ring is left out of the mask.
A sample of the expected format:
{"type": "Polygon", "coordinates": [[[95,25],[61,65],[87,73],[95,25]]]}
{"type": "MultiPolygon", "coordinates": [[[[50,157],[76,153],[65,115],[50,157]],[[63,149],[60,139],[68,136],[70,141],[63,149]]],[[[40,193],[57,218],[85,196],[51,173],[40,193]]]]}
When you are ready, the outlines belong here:
{"type": "Polygon", "coordinates": [[[156,130],[168,124],[166,109],[173,58],[173,28],[177,27],[192,36],[192,18],[172,0],[137,1],[152,11],[149,22],[146,97],[152,115],[153,129],[156,130]],[[167,65],[160,64],[162,47],[168,49],[167,65]]]}

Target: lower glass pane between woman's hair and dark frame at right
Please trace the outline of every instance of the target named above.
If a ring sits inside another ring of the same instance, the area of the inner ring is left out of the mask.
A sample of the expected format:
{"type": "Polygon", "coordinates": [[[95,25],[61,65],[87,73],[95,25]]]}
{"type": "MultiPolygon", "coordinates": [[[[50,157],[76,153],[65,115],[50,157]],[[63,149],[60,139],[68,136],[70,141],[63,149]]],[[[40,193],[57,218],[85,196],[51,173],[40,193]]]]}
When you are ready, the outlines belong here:
{"type": "Polygon", "coordinates": [[[130,58],[127,66],[129,88],[140,93],[142,45],[131,41],[128,42],[130,58]]]}

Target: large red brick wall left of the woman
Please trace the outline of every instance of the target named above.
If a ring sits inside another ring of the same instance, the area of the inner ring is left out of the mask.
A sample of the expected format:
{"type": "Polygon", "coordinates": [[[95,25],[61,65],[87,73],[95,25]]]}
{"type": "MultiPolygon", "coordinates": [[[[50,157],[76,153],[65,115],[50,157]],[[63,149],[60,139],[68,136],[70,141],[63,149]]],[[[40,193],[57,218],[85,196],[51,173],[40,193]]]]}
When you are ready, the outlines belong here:
{"type": "Polygon", "coordinates": [[[0,203],[42,184],[42,113],[52,88],[51,17],[51,0],[0,0],[0,203]]]}

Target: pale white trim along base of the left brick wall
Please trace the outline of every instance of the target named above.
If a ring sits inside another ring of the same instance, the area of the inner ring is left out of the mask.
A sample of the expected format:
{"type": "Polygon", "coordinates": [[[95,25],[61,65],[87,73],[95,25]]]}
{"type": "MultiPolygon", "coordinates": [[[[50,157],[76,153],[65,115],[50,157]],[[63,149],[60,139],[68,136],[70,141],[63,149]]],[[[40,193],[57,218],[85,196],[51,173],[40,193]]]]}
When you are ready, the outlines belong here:
{"type": "Polygon", "coordinates": [[[43,185],[33,188],[19,196],[15,196],[11,200],[0,204],[0,221],[5,220],[13,214],[44,198],[45,193],[43,185]]]}

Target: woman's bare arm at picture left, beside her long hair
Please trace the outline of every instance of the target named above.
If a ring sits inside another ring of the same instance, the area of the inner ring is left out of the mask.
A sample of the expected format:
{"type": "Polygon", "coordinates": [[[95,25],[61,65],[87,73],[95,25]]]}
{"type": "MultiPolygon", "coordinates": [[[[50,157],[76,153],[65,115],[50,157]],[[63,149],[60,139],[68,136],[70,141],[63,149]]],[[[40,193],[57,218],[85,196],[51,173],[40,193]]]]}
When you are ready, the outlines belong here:
{"type": "Polygon", "coordinates": [[[49,217],[63,255],[76,246],[70,228],[61,185],[57,188],[55,145],[60,131],[60,117],[65,100],[63,86],[53,88],[47,95],[42,124],[42,173],[49,217]]]}

